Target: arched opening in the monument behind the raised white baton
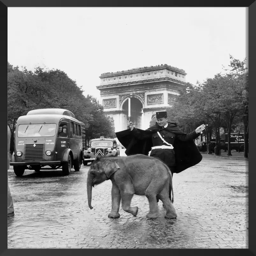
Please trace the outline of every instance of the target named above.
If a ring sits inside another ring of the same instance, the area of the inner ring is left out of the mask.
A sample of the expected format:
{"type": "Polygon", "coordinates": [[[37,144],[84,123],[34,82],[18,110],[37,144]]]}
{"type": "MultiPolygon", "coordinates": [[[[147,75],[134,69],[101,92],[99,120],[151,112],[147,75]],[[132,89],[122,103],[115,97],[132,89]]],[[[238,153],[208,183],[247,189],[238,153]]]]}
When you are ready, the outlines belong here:
{"type": "MultiPolygon", "coordinates": [[[[142,124],[142,109],[143,105],[141,101],[135,97],[130,97],[131,99],[131,121],[134,124],[134,127],[141,128],[142,124]]],[[[122,110],[126,115],[126,120],[128,120],[128,98],[122,102],[122,110]]]]}

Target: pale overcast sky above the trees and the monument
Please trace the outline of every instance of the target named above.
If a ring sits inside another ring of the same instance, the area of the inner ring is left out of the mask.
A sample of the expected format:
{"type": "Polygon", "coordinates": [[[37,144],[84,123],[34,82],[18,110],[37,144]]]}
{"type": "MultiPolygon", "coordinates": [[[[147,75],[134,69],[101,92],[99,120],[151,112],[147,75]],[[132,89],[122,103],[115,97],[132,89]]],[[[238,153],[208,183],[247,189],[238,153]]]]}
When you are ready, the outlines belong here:
{"type": "Polygon", "coordinates": [[[196,84],[246,57],[247,8],[8,8],[8,61],[60,69],[100,99],[99,76],[168,64],[196,84]]]}

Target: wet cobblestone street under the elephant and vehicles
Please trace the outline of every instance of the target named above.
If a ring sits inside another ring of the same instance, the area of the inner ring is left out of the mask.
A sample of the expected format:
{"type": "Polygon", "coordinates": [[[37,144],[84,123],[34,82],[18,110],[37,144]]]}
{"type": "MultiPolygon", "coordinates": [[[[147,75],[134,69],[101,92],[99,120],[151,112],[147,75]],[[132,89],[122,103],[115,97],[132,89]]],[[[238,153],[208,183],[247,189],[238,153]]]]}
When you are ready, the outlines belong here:
{"type": "MultiPolygon", "coordinates": [[[[124,151],[124,150],[122,150],[124,151]]],[[[111,181],[92,189],[90,165],[69,176],[58,171],[8,171],[15,216],[8,217],[8,248],[248,248],[248,161],[203,155],[200,164],[174,174],[177,219],[145,216],[149,204],[135,195],[136,217],[120,209],[111,219],[111,181]]]]}

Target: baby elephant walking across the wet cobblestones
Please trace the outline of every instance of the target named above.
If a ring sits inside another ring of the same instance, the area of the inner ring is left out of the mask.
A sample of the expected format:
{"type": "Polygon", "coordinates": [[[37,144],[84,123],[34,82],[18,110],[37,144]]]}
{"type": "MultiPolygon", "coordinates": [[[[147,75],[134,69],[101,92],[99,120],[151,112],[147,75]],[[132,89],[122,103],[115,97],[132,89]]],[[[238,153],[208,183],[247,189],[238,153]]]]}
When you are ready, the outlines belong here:
{"type": "Polygon", "coordinates": [[[134,194],[148,198],[150,211],[147,218],[158,217],[157,199],[163,202],[165,218],[177,217],[172,205],[172,174],[162,161],[141,154],[128,157],[97,157],[91,164],[87,177],[87,196],[91,209],[92,187],[108,179],[112,181],[112,210],[108,217],[120,217],[118,212],[121,198],[122,208],[136,216],[138,207],[130,206],[134,194]]]}

